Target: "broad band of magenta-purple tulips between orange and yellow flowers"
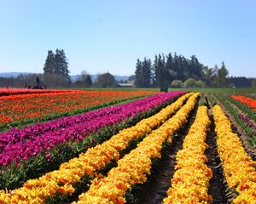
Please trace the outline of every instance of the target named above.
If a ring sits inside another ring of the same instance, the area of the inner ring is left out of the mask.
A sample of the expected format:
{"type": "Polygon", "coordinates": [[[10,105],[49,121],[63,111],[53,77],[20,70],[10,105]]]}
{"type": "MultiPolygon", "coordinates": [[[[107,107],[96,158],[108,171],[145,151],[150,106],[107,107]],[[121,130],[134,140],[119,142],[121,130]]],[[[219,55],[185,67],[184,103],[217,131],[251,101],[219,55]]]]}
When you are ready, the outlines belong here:
{"type": "Polygon", "coordinates": [[[138,113],[148,111],[157,105],[174,99],[184,92],[156,94],[145,99],[125,104],[91,111],[80,116],[68,116],[55,121],[38,123],[22,129],[13,128],[0,133],[0,165],[19,163],[38,155],[42,150],[49,150],[56,144],[71,139],[84,139],[100,127],[106,127],[132,118],[138,113]]]}

